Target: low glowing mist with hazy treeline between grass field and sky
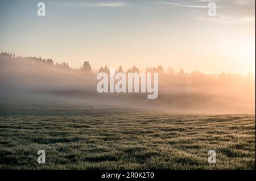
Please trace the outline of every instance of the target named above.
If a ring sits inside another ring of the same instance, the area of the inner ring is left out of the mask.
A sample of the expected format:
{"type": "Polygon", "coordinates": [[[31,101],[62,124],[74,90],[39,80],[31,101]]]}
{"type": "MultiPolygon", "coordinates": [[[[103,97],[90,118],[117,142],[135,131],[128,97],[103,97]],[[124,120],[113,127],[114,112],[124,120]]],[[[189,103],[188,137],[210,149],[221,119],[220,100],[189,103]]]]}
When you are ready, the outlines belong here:
{"type": "MultiPolygon", "coordinates": [[[[170,62],[171,64],[171,62],[170,62]]],[[[105,66],[105,65],[104,65],[105,66]]],[[[107,66],[81,69],[68,64],[55,64],[51,59],[0,55],[1,106],[7,104],[44,106],[118,106],[174,112],[254,113],[255,77],[232,73],[203,74],[198,71],[164,70],[134,66],[129,72],[158,72],[157,99],[146,93],[98,93],[98,71],[109,72],[107,66]]],[[[119,70],[117,71],[125,71],[119,70]]]]}

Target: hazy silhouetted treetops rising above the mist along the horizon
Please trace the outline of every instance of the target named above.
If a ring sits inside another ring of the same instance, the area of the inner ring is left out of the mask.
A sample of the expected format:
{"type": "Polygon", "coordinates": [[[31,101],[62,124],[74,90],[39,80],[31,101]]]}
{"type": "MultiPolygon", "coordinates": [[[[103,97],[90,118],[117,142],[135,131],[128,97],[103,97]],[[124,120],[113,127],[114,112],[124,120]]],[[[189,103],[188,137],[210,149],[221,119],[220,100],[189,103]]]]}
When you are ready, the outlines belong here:
{"type": "MultiPolygon", "coordinates": [[[[108,66],[101,66],[100,69],[98,70],[92,70],[92,67],[89,64],[89,61],[85,61],[84,64],[79,69],[73,69],[71,68],[67,62],[62,62],[60,63],[55,63],[51,58],[42,58],[42,57],[20,57],[20,56],[15,56],[15,53],[9,53],[9,52],[1,52],[0,56],[4,57],[5,59],[11,58],[15,60],[31,60],[34,62],[40,62],[43,64],[47,64],[50,66],[54,66],[55,68],[58,69],[64,69],[64,70],[72,70],[72,71],[80,71],[82,73],[88,73],[88,74],[95,74],[99,72],[105,72],[108,73],[110,72],[108,66]]],[[[128,69],[128,70],[123,70],[122,66],[120,65],[119,68],[116,70],[116,72],[122,72],[122,73],[141,73],[142,70],[139,70],[135,65],[128,69]]],[[[162,76],[165,77],[176,77],[176,78],[209,78],[210,77],[218,77],[221,79],[233,79],[233,78],[245,78],[245,76],[242,76],[240,74],[230,74],[230,73],[225,73],[224,71],[218,75],[207,75],[203,74],[200,71],[191,71],[191,73],[185,72],[183,69],[180,69],[179,71],[175,71],[172,68],[168,68],[167,70],[164,70],[162,66],[154,67],[154,68],[147,68],[145,70],[146,73],[159,73],[162,76]]],[[[255,79],[254,75],[248,73],[246,78],[250,79],[255,79]]]]}

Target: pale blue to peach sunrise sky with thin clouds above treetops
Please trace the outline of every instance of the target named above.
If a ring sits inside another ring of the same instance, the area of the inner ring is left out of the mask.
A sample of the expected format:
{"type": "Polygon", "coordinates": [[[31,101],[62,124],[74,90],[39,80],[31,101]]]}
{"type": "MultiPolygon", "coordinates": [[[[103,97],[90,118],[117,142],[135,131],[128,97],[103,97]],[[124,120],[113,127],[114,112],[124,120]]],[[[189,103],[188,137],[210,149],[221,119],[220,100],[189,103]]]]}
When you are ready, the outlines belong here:
{"type": "Polygon", "coordinates": [[[0,0],[0,52],[80,68],[255,75],[254,0],[0,0]],[[38,2],[46,16],[38,16],[38,2]],[[208,3],[217,5],[208,15],[208,3]]]}

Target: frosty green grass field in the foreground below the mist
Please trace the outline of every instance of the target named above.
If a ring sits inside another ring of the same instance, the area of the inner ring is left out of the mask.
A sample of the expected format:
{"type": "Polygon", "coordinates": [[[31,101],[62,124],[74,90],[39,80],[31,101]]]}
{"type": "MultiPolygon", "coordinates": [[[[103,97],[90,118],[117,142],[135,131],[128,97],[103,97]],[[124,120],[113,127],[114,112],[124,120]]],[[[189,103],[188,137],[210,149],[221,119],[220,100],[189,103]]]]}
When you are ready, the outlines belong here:
{"type": "Polygon", "coordinates": [[[0,169],[255,169],[255,115],[1,107],[0,169]]]}

